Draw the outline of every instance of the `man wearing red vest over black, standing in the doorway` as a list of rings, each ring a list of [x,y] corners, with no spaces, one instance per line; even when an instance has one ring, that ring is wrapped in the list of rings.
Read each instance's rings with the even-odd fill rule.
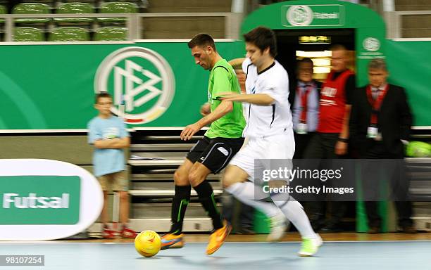
[[[317,134],[306,148],[304,153],[306,159],[335,159],[347,153],[351,96],[356,88],[355,75],[347,68],[346,48],[335,45],[331,50],[332,70],[322,86]],[[326,220],[323,220],[324,207],[325,204],[322,202],[310,203],[313,229],[326,232],[338,231],[339,221],[345,212],[345,204],[332,202],[330,219]]]

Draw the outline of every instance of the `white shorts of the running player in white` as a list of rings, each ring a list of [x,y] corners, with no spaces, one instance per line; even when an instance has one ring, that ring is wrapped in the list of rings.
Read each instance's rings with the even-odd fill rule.
[[[256,166],[262,166],[264,169],[271,168],[270,160],[289,160],[285,167],[292,168],[292,158],[295,153],[295,140],[293,135],[271,136],[265,139],[249,139],[245,146],[232,160],[229,165],[235,165],[244,169],[249,174],[249,180],[254,181]],[[262,160],[255,165],[255,160]],[[280,162],[276,162],[277,165]],[[262,168],[260,168],[262,169]]]

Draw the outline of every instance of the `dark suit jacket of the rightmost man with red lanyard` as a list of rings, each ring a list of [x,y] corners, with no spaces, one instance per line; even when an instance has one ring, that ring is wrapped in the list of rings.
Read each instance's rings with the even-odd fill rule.
[[[356,89],[350,115],[350,137],[360,155],[373,147],[373,139],[367,139],[370,126],[371,105],[366,86]],[[389,84],[387,94],[377,114],[377,127],[382,133],[382,142],[387,154],[396,158],[404,156],[401,139],[408,140],[412,116],[407,103],[406,91],[400,86]]]

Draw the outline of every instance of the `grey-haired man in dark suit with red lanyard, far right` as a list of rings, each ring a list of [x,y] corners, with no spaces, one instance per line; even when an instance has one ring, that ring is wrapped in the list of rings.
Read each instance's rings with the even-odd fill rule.
[[[412,116],[406,93],[400,86],[387,84],[389,73],[385,60],[375,58],[368,65],[370,84],[356,91],[350,117],[350,136],[363,159],[394,159],[389,162],[390,189],[394,196],[399,226],[405,233],[413,233],[411,202],[408,201],[408,182],[404,169],[404,143],[408,141]],[[379,175],[376,172],[383,162],[365,162],[363,188],[366,200],[369,233],[380,231],[381,217],[377,214]],[[371,165],[371,166],[370,166]],[[375,166],[379,165],[379,166]],[[401,166],[399,166],[401,165]],[[381,167],[381,166],[380,166]],[[377,169],[378,170],[378,169]],[[381,170],[381,169],[380,169]],[[368,197],[368,198],[367,198]]]

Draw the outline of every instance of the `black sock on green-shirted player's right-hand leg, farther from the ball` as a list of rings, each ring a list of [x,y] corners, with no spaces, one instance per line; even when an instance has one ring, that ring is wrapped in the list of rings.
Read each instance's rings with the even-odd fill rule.
[[[218,212],[217,205],[215,205],[213,188],[208,183],[208,181],[203,181],[198,186],[194,187],[194,190],[199,196],[202,206],[206,212],[208,212],[208,217],[213,219],[214,230],[223,227],[220,212]]]

